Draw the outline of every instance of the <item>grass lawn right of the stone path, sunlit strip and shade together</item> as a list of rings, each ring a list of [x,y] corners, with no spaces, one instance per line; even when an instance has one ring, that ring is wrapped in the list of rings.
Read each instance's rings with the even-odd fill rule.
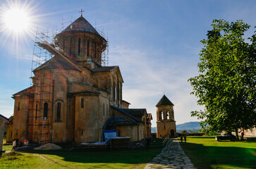
[[[181,146],[196,168],[256,168],[256,142],[187,137]]]

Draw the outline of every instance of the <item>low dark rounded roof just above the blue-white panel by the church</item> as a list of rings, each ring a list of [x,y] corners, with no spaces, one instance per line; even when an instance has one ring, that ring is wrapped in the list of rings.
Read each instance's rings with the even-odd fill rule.
[[[109,120],[106,121],[105,125],[107,127],[116,127],[118,125],[139,125],[138,123],[135,123],[133,120],[129,120],[124,117],[114,117],[109,118]]]

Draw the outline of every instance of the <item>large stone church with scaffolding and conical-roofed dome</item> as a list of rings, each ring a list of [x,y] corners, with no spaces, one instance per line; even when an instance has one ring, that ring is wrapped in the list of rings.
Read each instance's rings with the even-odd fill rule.
[[[152,115],[128,108],[118,65],[103,66],[107,41],[83,15],[54,37],[37,42],[53,57],[32,72],[32,86],[13,94],[7,140],[45,144],[104,141],[104,130],[139,141],[151,136]]]

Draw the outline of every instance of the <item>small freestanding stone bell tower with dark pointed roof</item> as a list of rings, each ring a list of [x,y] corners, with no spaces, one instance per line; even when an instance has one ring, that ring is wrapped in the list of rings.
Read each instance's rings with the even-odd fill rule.
[[[157,107],[157,138],[176,137],[176,121],[174,120],[174,104],[164,95]]]

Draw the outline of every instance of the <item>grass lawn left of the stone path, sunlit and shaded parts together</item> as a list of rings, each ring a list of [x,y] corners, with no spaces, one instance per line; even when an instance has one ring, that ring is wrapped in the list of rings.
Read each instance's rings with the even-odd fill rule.
[[[11,152],[0,158],[0,168],[144,168],[161,152],[162,141],[156,139],[150,149]],[[4,146],[6,151],[11,148]]]

